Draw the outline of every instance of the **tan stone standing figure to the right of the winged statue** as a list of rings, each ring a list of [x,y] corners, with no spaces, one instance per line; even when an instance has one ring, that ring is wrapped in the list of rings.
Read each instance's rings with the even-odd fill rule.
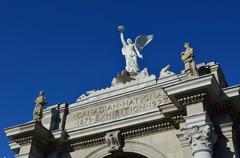
[[[196,63],[194,60],[194,50],[189,43],[184,43],[185,51],[181,53],[181,59],[185,64],[184,74],[186,76],[198,75]]]

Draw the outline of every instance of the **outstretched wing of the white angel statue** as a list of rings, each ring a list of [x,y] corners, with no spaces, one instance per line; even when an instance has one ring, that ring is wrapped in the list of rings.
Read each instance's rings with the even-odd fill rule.
[[[142,51],[142,49],[153,40],[153,35],[139,35],[135,39],[135,45],[137,46],[139,51]]]

